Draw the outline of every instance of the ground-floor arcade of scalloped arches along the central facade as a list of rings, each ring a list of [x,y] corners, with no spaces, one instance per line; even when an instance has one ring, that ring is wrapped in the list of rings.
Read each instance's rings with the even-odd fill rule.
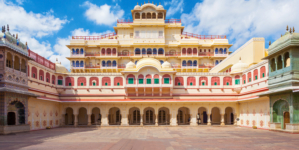
[[[80,106],[65,107],[63,125],[236,125],[235,107]]]

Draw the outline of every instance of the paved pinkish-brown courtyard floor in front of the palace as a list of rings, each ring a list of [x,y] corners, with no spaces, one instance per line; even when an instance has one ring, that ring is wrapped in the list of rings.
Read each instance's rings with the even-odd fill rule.
[[[299,149],[299,134],[241,127],[55,128],[0,135],[0,149]]]

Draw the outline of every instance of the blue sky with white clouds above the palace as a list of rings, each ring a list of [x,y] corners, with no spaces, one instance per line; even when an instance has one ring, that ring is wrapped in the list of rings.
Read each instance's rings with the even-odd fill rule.
[[[9,24],[32,51],[69,68],[71,36],[114,32],[117,19],[131,19],[135,0],[0,0],[0,25]],[[148,2],[148,1],[146,1]],[[150,1],[152,2],[152,1]],[[236,50],[253,37],[275,41],[286,25],[299,30],[299,0],[166,0],[168,19],[182,19],[186,32],[227,35]]]

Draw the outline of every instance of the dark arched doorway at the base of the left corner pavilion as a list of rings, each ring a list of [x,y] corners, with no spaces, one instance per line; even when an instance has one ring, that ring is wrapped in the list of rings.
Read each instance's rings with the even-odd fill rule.
[[[25,124],[25,107],[19,101],[13,101],[7,108],[7,123],[8,125]]]

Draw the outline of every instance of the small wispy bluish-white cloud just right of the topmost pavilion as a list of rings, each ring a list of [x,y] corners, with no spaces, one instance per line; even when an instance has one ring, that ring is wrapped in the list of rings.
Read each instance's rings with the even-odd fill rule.
[[[174,15],[177,12],[183,12],[184,0],[171,0],[164,2],[164,6],[169,6],[167,10],[167,17]]]

